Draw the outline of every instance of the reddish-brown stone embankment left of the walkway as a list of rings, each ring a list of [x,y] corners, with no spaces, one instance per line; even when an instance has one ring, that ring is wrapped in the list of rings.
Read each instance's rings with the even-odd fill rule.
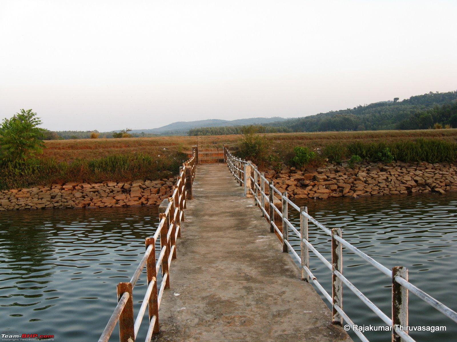
[[[159,181],[53,184],[51,187],[3,190],[0,210],[97,208],[156,205],[172,193],[175,178]]]

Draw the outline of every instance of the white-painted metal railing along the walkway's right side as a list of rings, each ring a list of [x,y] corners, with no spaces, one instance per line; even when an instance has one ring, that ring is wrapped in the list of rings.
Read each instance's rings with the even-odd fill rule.
[[[227,147],[224,147],[224,157],[228,164],[229,170],[234,175],[235,179],[239,182],[240,186],[244,186],[244,195],[253,197],[254,202],[260,207],[262,215],[270,223],[271,233],[275,232],[280,241],[282,242],[283,252],[292,253],[292,256],[297,259],[297,264],[302,273],[302,280],[311,282],[319,289],[327,301],[329,301],[332,308],[332,324],[343,325],[343,320],[349,326],[354,326],[349,316],[343,311],[343,284],[346,285],[365,305],[368,306],[381,320],[391,327],[392,341],[408,341],[415,342],[415,340],[408,335],[408,295],[409,291],[418,296],[421,300],[425,301],[436,310],[449,317],[452,321],[457,322],[457,312],[437,301],[432,296],[420,290],[415,285],[408,281],[408,269],[403,266],[395,266],[388,269],[382,264],[378,263],[369,255],[362,252],[360,249],[354,247],[344,238],[342,238],[341,229],[333,228],[328,229],[323,224],[319,223],[315,218],[308,214],[307,207],[298,207],[289,198],[287,198],[287,191],[280,192],[274,187],[273,181],[268,181],[263,172],[257,170],[250,161],[244,161],[232,155]],[[267,184],[268,194],[265,190]],[[277,204],[275,204],[275,198]],[[300,231],[288,220],[287,212],[289,205],[297,210],[300,214]],[[269,208],[268,212],[266,208]],[[278,208],[281,207],[281,210]],[[332,262],[320,254],[316,248],[308,241],[308,223],[313,223],[316,227],[324,231],[331,239],[331,254]],[[300,239],[301,255],[292,248],[289,243],[289,228]],[[354,286],[343,275],[343,249],[348,249],[352,253],[364,259],[368,264],[374,266],[387,275],[392,280],[392,312],[391,317],[383,313],[372,301],[370,301],[359,289]],[[322,263],[332,272],[332,293],[329,294],[324,287],[319,284],[317,278],[311,273],[309,269],[309,251],[314,253]],[[354,333],[361,339],[361,341],[368,342],[367,338],[359,330],[353,330]]]

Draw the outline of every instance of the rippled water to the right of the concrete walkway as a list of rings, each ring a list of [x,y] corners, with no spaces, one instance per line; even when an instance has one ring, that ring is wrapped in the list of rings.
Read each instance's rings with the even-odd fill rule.
[[[343,237],[375,260],[409,269],[409,280],[457,310],[457,194],[444,196],[372,197],[308,202],[308,212],[327,228],[341,228]],[[299,227],[298,212],[289,217]],[[330,237],[310,223],[309,241],[331,260]],[[300,254],[298,238],[294,249]],[[331,272],[310,251],[310,267],[331,294]],[[391,280],[343,247],[343,274],[387,316],[391,316]],[[343,286],[343,307],[357,325],[383,325],[351,290]],[[320,291],[317,290],[320,294]],[[323,297],[323,296],[322,296]],[[323,300],[328,303],[324,297]],[[446,326],[446,332],[412,332],[418,341],[454,341],[457,323],[409,295],[409,325]],[[370,341],[388,341],[389,333],[366,332]],[[358,338],[353,334],[352,338]]]

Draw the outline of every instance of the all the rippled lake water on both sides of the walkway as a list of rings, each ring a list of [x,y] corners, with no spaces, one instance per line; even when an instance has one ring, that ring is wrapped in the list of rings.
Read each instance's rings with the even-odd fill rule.
[[[344,238],[386,267],[407,267],[413,284],[457,310],[457,194],[316,201],[308,209],[327,228],[342,228]],[[298,223],[294,210],[289,217]],[[157,207],[2,212],[1,331],[97,341],[116,306],[117,283],[133,275],[144,238],[157,225]],[[330,259],[329,238],[312,225],[309,237]],[[345,276],[390,316],[390,279],[363,259],[344,250],[343,255]],[[331,292],[330,271],[310,256],[312,272]],[[133,292],[135,312],[144,292],[142,277]],[[455,340],[456,323],[414,295],[409,299],[410,325],[447,327],[447,332],[411,333],[413,337]],[[383,324],[347,288],[343,307],[356,324]],[[390,338],[379,332],[366,336],[370,341]]]

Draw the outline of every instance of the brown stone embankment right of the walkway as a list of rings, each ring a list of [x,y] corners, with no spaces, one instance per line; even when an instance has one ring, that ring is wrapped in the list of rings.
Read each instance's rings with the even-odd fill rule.
[[[457,190],[457,167],[449,164],[369,164],[355,169],[329,165],[298,171],[294,167],[279,173],[266,170],[281,192],[290,198],[365,197]]]

